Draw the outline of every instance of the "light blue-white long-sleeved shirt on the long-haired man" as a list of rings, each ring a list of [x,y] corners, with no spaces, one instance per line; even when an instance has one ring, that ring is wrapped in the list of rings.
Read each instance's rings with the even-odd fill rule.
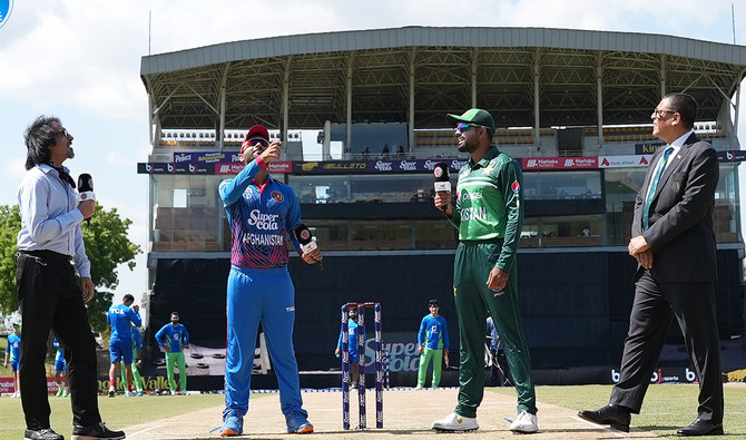
[[[60,179],[57,170],[40,164],[26,172],[18,187],[18,205],[21,214],[18,250],[70,255],[80,276],[90,277],[77,193]]]

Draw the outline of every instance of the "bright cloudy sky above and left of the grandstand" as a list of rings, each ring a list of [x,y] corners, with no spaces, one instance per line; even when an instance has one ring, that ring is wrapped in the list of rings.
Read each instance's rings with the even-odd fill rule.
[[[99,204],[132,221],[147,250],[148,53],[311,32],[438,27],[539,27],[661,33],[746,45],[746,4],[710,0],[11,0],[0,28],[0,205],[16,204],[24,173],[23,131],[55,115],[75,136],[73,176],[94,177]],[[151,25],[149,26],[149,17]],[[745,85],[746,86],[746,85]],[[739,123],[746,133],[746,111]],[[745,136],[745,135],[742,135]],[[744,168],[744,167],[742,167]],[[740,180],[746,182],[742,169]],[[746,194],[742,185],[742,193]],[[742,215],[742,217],[744,217]],[[147,291],[146,255],[119,267],[115,299]],[[92,268],[94,271],[96,267]]]

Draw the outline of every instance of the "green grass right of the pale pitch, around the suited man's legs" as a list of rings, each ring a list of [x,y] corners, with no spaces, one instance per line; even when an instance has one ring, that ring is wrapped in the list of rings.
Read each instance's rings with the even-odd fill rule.
[[[490,388],[490,391],[514,395],[512,388]],[[727,436],[717,439],[746,438],[746,387],[725,387],[725,420]],[[538,387],[537,400],[576,410],[595,410],[609,403],[611,385]],[[691,423],[697,417],[696,384],[651,385],[645,395],[642,410],[632,415],[632,427],[658,436],[676,437],[676,430]],[[541,427],[541,413],[539,413]]]

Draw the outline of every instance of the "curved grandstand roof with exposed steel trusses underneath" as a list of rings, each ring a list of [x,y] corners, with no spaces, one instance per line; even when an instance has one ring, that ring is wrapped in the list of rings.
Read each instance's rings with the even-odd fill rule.
[[[489,109],[501,127],[646,124],[665,92],[699,120],[728,115],[746,47],[541,28],[406,27],[226,42],[143,57],[154,123],[175,129],[445,126]],[[600,87],[599,87],[600,85]],[[600,97],[600,104],[599,104]],[[350,106],[350,113],[347,107]]]

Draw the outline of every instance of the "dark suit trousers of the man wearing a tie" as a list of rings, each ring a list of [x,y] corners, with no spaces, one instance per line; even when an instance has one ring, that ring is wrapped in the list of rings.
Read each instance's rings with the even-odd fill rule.
[[[619,383],[609,403],[639,413],[674,317],[699,380],[699,419],[723,422],[720,341],[715,320],[714,283],[659,283],[642,271],[625,340]]]

